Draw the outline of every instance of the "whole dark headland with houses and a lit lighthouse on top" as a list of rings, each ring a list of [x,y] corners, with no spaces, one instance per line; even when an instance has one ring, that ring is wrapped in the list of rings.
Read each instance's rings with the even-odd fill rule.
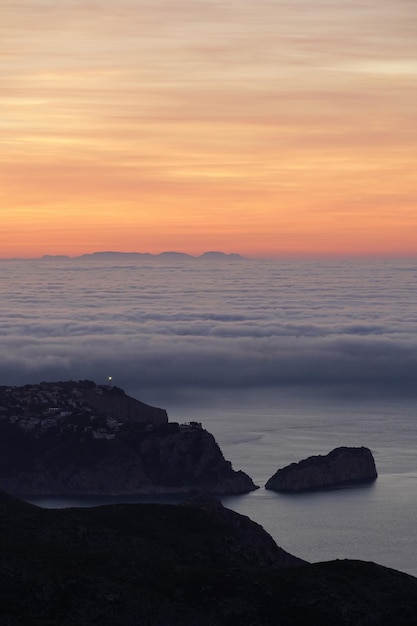
[[[201,423],[92,381],[0,387],[0,489],[14,496],[240,494],[257,487]]]

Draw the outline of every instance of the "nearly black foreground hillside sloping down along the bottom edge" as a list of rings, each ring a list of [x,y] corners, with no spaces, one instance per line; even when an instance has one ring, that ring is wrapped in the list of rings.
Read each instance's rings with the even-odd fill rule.
[[[4,626],[416,623],[416,578],[300,563],[218,503],[59,510],[0,495],[0,528]]]

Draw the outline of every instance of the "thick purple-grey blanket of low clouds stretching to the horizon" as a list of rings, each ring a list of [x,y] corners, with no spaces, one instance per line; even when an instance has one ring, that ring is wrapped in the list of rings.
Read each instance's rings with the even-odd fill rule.
[[[3,260],[0,384],[417,393],[417,261]]]

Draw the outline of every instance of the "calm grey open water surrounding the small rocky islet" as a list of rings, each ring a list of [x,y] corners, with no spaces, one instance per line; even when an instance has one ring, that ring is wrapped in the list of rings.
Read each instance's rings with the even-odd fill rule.
[[[260,523],[281,547],[309,561],[358,558],[417,575],[413,401],[265,391],[224,398],[199,414],[234,467],[261,486],[224,504]],[[339,445],[371,448],[379,473],[373,485],[302,495],[263,488],[279,467]]]

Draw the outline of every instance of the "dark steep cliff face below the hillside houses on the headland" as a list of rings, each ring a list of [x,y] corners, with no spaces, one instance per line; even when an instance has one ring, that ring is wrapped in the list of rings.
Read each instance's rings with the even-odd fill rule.
[[[23,439],[14,455],[9,439],[7,458],[0,458],[0,489],[14,495],[237,494],[256,489],[249,476],[233,470],[202,428],[129,425],[111,440],[74,434]]]

